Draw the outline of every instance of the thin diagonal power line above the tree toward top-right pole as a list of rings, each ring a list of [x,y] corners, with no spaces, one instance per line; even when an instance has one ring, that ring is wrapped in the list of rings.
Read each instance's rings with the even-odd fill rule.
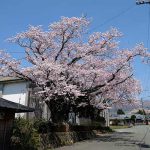
[[[132,5],[132,6],[128,7],[127,9],[121,11],[119,14],[117,14],[117,15],[115,15],[115,16],[113,16],[113,17],[107,19],[107,20],[105,20],[103,23],[101,23],[101,24],[95,26],[94,28],[92,28],[91,30],[89,30],[89,32],[92,32],[92,31],[94,31],[95,29],[98,29],[98,28],[102,27],[103,25],[105,25],[105,24],[111,22],[112,20],[115,20],[116,18],[118,18],[118,17],[120,17],[121,15],[127,13],[128,11],[130,11],[130,10],[131,10],[132,8],[134,8],[134,7],[135,7],[135,5]]]

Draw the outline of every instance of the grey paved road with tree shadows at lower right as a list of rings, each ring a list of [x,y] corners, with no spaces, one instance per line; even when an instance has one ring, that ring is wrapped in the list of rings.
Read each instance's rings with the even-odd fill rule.
[[[102,135],[55,150],[150,150],[150,126],[119,129],[111,135]]]

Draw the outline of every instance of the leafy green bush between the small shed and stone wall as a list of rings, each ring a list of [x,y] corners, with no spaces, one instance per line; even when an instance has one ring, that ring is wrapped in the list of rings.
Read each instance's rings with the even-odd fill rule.
[[[39,134],[33,124],[23,118],[15,119],[11,137],[12,150],[37,150]]]

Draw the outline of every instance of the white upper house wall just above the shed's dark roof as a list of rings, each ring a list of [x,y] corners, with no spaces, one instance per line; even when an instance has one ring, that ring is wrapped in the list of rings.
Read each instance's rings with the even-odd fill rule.
[[[26,105],[27,83],[8,83],[5,84],[2,91],[2,98]]]

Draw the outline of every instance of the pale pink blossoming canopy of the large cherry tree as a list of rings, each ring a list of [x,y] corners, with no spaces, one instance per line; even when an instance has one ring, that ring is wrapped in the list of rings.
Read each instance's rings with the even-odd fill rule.
[[[87,34],[89,23],[86,18],[62,17],[48,31],[30,26],[9,39],[24,49],[28,67],[1,51],[0,75],[34,83],[51,111],[64,102],[96,108],[135,103],[141,89],[133,76],[133,58],[149,54],[143,44],[120,49],[117,39],[122,34],[115,28]]]

